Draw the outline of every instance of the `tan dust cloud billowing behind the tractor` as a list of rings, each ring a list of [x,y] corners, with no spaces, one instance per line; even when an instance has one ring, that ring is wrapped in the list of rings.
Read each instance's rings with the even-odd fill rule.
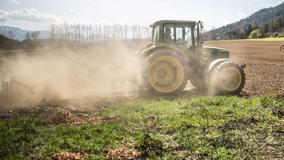
[[[139,59],[135,49],[123,45],[112,47],[92,47],[87,49],[47,49],[40,54],[19,53],[10,60],[13,62],[13,79],[34,87],[28,89],[11,84],[12,105],[25,106],[30,102],[49,102],[76,96],[126,94],[124,91],[139,89],[141,82]],[[136,84],[120,81],[120,76],[136,77]],[[9,77],[7,77],[9,80]],[[11,103],[5,103],[6,105]]]

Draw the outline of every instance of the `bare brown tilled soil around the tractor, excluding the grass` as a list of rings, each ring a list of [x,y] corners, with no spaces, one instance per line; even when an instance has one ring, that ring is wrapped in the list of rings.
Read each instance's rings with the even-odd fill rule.
[[[230,51],[230,60],[239,64],[246,63],[246,84],[240,96],[253,97],[268,95],[275,91],[284,89],[284,53],[279,51],[279,46],[284,42],[257,42],[257,41],[219,41],[204,42],[204,46],[225,48]],[[117,85],[111,93],[96,93],[88,96],[78,96],[70,99],[62,99],[49,102],[30,103],[28,106],[16,106],[13,108],[2,108],[1,119],[18,118],[20,116],[39,116],[50,118],[59,110],[67,110],[78,116],[89,116],[99,112],[109,104],[123,101],[141,101],[143,99],[157,99],[156,97],[143,93],[138,88],[127,90],[129,83]],[[163,97],[176,99],[178,97],[191,97],[202,95],[190,83],[179,96]],[[64,109],[65,108],[65,109]]]

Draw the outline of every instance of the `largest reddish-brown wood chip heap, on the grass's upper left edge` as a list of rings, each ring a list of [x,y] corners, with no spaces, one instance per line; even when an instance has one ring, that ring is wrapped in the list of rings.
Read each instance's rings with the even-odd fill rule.
[[[116,118],[115,116],[81,118],[70,112],[60,110],[50,118],[50,120],[47,122],[47,125],[81,126],[82,124],[87,124],[87,123],[92,123],[92,124],[106,123],[110,120],[116,122],[118,118]]]

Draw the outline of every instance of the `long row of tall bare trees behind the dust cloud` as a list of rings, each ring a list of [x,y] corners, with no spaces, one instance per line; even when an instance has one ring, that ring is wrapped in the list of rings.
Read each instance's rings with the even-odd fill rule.
[[[73,46],[86,44],[110,44],[114,41],[129,39],[130,36],[137,44],[147,41],[151,36],[148,25],[128,24],[51,24],[50,39],[54,44],[65,43]],[[60,43],[58,43],[60,42]]]

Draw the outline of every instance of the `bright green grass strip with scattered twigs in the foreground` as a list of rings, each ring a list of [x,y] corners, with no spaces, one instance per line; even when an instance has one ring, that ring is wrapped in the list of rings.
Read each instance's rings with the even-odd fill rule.
[[[0,121],[0,159],[42,159],[82,149],[106,159],[109,148],[137,148],[143,159],[261,159],[284,155],[281,96],[194,97],[112,104],[95,116],[118,122],[80,127],[45,125],[41,118]],[[282,156],[282,157],[281,157]]]

